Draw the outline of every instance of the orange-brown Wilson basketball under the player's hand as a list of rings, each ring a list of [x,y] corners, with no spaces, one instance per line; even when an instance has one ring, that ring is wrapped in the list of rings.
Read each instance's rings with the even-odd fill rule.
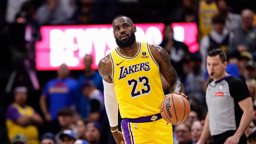
[[[166,122],[180,124],[186,121],[190,114],[190,103],[182,95],[169,94],[162,101],[160,112]]]

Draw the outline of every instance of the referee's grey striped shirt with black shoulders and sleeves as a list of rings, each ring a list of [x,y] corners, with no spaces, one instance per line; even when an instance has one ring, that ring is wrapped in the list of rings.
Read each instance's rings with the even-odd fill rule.
[[[206,103],[211,135],[238,128],[243,113],[238,102],[247,97],[250,97],[247,85],[235,76],[229,75],[208,84]]]

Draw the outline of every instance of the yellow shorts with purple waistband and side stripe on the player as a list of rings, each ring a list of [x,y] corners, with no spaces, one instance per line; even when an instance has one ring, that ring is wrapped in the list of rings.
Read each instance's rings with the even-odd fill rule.
[[[172,125],[160,113],[139,118],[124,118],[121,123],[126,144],[173,144]]]

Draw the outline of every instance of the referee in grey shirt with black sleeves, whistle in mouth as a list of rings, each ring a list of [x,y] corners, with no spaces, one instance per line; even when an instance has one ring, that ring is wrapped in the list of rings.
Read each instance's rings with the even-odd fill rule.
[[[245,130],[252,121],[254,110],[245,82],[226,73],[227,58],[222,49],[207,54],[207,70],[213,81],[206,89],[208,113],[197,144],[246,144]]]

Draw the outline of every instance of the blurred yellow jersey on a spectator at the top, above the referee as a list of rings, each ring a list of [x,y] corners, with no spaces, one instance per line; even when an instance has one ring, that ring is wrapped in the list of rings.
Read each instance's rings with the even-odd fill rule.
[[[212,30],[212,18],[218,14],[218,7],[215,2],[207,4],[206,0],[201,0],[198,7],[198,23],[201,37],[209,34]]]

